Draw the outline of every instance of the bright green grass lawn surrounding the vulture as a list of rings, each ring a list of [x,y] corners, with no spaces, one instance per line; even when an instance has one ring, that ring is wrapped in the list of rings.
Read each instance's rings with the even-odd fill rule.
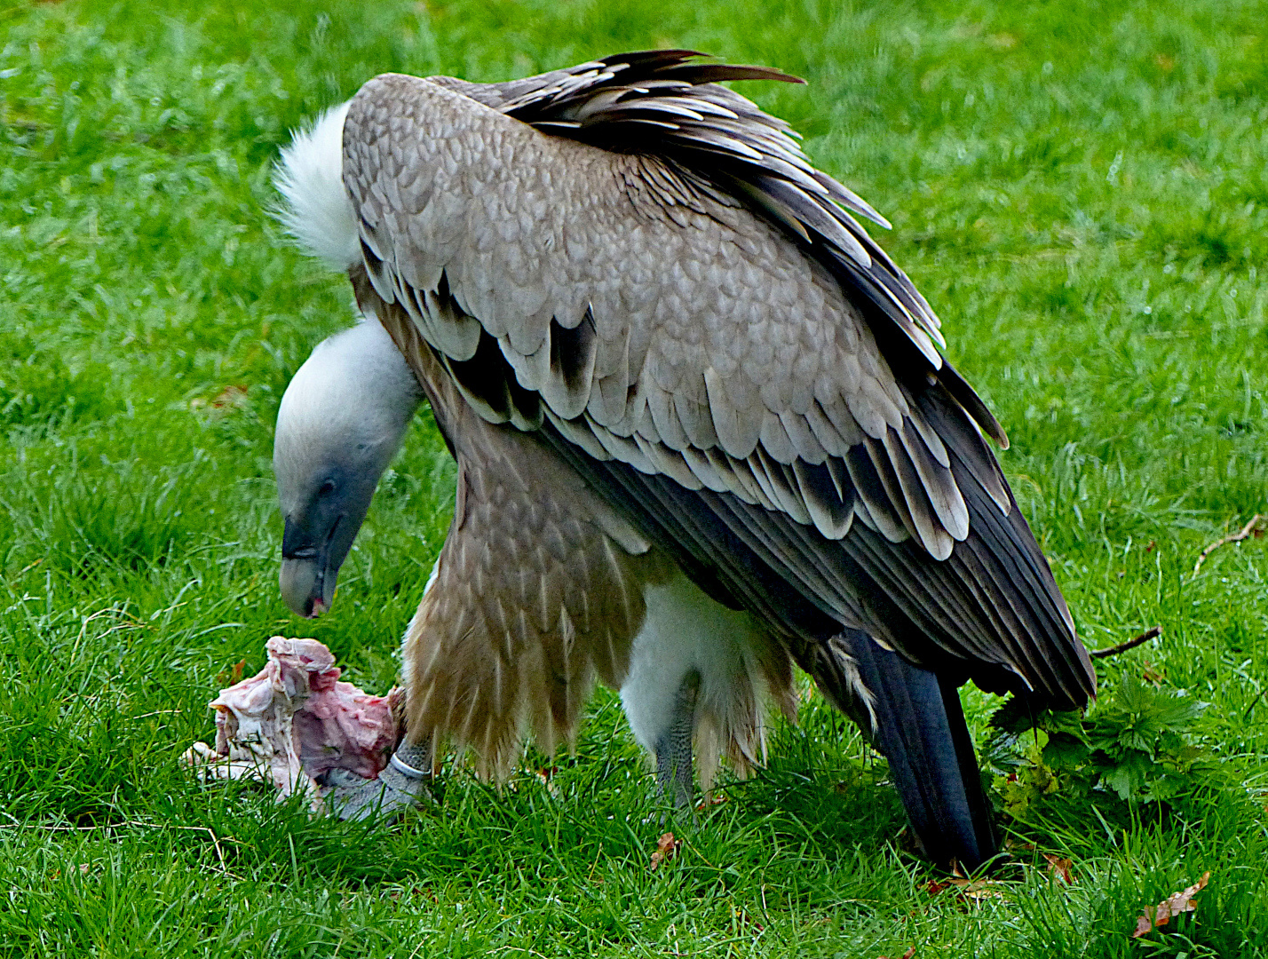
[[[0,11],[0,956],[1153,955],[1127,939],[1141,907],[1206,870],[1161,954],[1268,955],[1268,539],[1193,575],[1265,511],[1268,8],[184,9]],[[1165,629],[1103,681],[1149,669],[1208,703],[1217,780],[1165,814],[1098,818],[1098,798],[1012,822],[1037,849],[970,901],[929,893],[884,762],[815,699],[657,871],[606,691],[557,793],[530,755],[502,792],[455,773],[397,830],[186,775],[218,674],[259,669],[273,633],[385,690],[451,511],[424,414],[333,613],[287,614],[271,424],[350,317],[266,216],[287,131],[383,71],[493,80],[658,44],[810,81],[746,93],[893,219],[1084,639]],[[966,701],[981,736],[994,703]],[[1042,852],[1074,860],[1071,887]]]

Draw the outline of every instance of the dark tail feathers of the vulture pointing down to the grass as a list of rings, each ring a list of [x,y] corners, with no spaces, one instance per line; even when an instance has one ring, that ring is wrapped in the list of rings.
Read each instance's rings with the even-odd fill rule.
[[[872,695],[875,745],[924,854],[976,869],[995,854],[997,840],[955,686],[865,633],[848,630],[844,639]]]

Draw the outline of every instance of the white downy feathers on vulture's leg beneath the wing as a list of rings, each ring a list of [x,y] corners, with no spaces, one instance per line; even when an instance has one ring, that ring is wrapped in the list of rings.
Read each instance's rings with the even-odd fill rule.
[[[639,745],[654,751],[673,722],[678,689],[692,671],[700,674],[697,724],[706,715],[729,729],[751,727],[754,719],[760,724],[754,710],[761,708],[765,682],[753,649],[768,639],[753,619],[709,599],[681,572],[647,586],[644,601],[647,616],[621,685],[621,705]]]

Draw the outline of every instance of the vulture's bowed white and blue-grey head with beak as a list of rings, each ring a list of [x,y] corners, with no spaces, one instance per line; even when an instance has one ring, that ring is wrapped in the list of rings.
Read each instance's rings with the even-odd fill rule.
[[[374,320],[318,344],[287,387],[273,472],[285,519],[281,596],[299,615],[330,609],[339,567],[421,398]]]

